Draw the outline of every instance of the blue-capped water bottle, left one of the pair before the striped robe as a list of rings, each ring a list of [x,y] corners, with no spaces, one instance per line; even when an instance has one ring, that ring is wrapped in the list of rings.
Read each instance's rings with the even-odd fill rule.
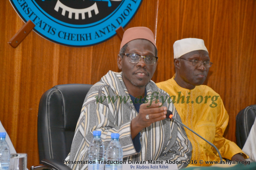
[[[88,149],[88,161],[92,162],[89,162],[88,170],[104,170],[104,163],[101,163],[101,161],[104,161],[105,148],[102,140],[100,139],[100,135],[101,131],[93,131],[93,139]]]

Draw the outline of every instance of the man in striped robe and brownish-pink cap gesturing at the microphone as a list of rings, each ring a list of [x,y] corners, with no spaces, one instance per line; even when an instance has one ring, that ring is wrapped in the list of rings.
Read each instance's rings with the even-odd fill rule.
[[[180,117],[173,103],[166,100],[169,95],[151,81],[156,56],[150,29],[134,27],[125,31],[117,60],[122,72],[109,71],[89,90],[67,161],[88,160],[92,131],[100,130],[105,147],[111,133],[120,134],[123,160],[168,160],[178,162],[179,169],[187,166],[190,141],[182,126],[165,119],[166,110],[179,120]],[[72,169],[87,169],[86,164],[68,165]]]

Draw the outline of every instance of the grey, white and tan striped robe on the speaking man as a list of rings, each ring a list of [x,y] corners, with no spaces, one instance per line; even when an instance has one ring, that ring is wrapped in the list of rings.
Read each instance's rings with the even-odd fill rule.
[[[158,96],[163,106],[180,117],[173,105],[168,102],[169,95],[159,89],[153,81],[146,85],[147,99]],[[156,97],[157,98],[157,97]],[[167,99],[167,100],[166,100]],[[109,71],[89,90],[81,110],[71,151],[66,161],[88,160],[88,147],[93,138],[93,130],[102,132],[101,139],[105,149],[111,140],[111,133],[120,134],[123,160],[175,160],[182,162],[178,168],[186,167],[185,161],[191,158],[191,143],[185,130],[176,121],[164,119],[152,123],[141,130],[141,150],[136,152],[131,139],[131,120],[137,111],[130,100],[129,93],[122,79],[122,72]],[[181,121],[181,120],[180,120]],[[72,169],[87,169],[87,164],[68,164]]]

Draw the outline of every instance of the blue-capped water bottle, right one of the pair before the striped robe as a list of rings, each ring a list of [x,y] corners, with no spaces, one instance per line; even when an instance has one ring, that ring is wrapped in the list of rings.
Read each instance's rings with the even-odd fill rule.
[[[109,161],[109,162],[108,162]],[[111,141],[106,149],[105,170],[122,170],[123,149],[119,143],[119,134],[112,133]]]

